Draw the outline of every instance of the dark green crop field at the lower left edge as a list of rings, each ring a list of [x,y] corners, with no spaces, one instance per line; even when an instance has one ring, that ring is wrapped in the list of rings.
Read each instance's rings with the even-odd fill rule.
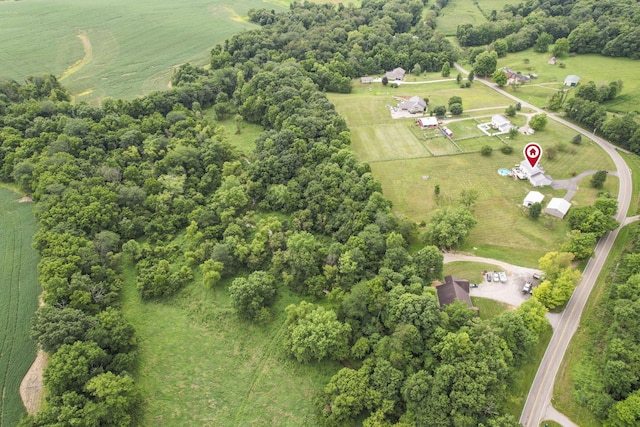
[[[0,187],[0,426],[7,427],[25,414],[19,387],[36,357],[29,329],[40,294],[33,204],[18,199]]]

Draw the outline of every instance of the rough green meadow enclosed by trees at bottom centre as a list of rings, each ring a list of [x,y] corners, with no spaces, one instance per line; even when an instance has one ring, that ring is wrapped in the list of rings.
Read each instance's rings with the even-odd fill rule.
[[[265,326],[238,321],[224,285],[200,279],[176,297],[141,302],[127,261],[124,313],[136,325],[135,378],[145,401],[140,425],[315,425],[313,397],[341,367],[306,365],[282,354],[283,291]]]

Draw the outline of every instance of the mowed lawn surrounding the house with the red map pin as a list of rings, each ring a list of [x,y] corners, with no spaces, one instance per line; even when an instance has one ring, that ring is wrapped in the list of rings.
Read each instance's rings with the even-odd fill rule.
[[[350,126],[353,150],[361,160],[370,163],[385,196],[393,202],[394,210],[415,222],[427,220],[439,207],[459,205],[462,190],[477,190],[479,198],[473,211],[478,224],[462,249],[473,250],[479,256],[535,267],[546,252],[559,248],[568,232],[566,221],[546,215],[537,221],[529,218],[522,200],[534,187],[527,181],[498,175],[499,168],[510,169],[522,161],[522,150],[527,143],[537,142],[543,150],[557,150],[555,159],[543,158],[541,161],[554,179],[569,179],[588,170],[614,168],[611,159],[597,144],[587,138],[583,138],[579,146],[572,144],[575,131],[551,120],[545,130],[531,136],[518,135],[509,139],[502,135],[502,140],[479,136],[477,124],[490,118],[477,116],[499,113],[509,104],[509,100],[484,86],[459,89],[443,82],[403,85],[398,89],[374,84],[370,89],[356,83],[351,95],[329,95]],[[446,105],[450,96],[458,95],[467,111],[464,115],[469,117],[451,118],[451,123],[445,119],[445,124],[454,131],[455,144],[437,136],[436,131],[424,132],[430,136],[425,138],[414,124],[414,118],[391,118],[385,105],[397,104],[392,95],[428,97],[431,107]],[[479,110],[483,108],[487,110]],[[499,151],[505,144],[513,147],[512,154]],[[494,149],[491,156],[478,152],[484,145]],[[435,196],[436,185],[440,187],[439,197]],[[617,178],[609,176],[605,189],[617,194]],[[545,202],[565,195],[564,190],[550,187],[538,190],[545,195]],[[590,188],[589,178],[585,178],[574,202],[578,206],[590,204],[596,195],[597,192]]]

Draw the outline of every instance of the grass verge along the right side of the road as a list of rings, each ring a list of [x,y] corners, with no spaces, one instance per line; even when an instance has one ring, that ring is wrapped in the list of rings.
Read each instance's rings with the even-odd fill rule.
[[[601,352],[602,340],[606,333],[607,325],[602,323],[603,298],[608,285],[605,280],[614,271],[620,254],[633,240],[638,223],[628,225],[620,230],[618,238],[609,252],[607,261],[598,276],[596,285],[589,295],[589,299],[582,312],[580,326],[574,334],[569,347],[558,370],[554,389],[554,406],[560,412],[567,415],[574,422],[584,427],[596,427],[602,425],[600,421],[584,406],[578,404],[575,399],[577,377],[583,379],[593,377],[600,384],[602,375],[601,363],[594,353]]]

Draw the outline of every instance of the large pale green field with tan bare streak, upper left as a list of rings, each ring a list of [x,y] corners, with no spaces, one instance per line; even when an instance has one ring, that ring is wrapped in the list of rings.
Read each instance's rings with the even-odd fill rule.
[[[255,27],[260,0],[0,2],[0,78],[50,73],[76,100],[132,98],[167,88],[173,68],[207,64],[211,48]]]

